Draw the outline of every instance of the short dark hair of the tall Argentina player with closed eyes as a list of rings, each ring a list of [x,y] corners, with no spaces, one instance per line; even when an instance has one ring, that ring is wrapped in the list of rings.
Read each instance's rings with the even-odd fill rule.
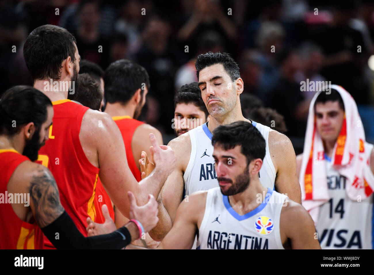
[[[207,52],[206,54],[200,54],[197,56],[195,62],[197,79],[199,80],[199,73],[203,68],[215,64],[222,64],[232,81],[240,77],[239,65],[229,54],[226,52],[223,54],[220,52]]]

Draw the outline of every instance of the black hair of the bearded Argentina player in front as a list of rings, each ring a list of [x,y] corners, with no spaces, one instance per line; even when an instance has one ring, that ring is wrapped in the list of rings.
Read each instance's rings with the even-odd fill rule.
[[[240,145],[247,165],[254,159],[263,160],[266,153],[264,137],[255,126],[246,121],[220,125],[213,131],[212,144],[222,145],[225,150]]]

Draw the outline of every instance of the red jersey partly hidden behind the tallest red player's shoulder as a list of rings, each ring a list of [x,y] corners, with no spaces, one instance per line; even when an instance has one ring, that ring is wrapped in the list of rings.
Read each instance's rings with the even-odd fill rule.
[[[136,180],[139,182],[141,181],[141,173],[137,164],[135,163],[134,155],[132,154],[131,141],[135,130],[139,125],[144,124],[144,122],[133,119],[130,116],[114,116],[112,119],[114,122],[116,122],[121,131],[123,142],[125,143],[126,157],[129,168]]]

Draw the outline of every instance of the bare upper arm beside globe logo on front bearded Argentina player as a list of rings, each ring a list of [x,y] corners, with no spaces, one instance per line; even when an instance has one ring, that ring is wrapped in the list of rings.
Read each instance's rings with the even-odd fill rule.
[[[280,224],[292,249],[321,249],[313,219],[300,204],[288,200],[282,208]]]

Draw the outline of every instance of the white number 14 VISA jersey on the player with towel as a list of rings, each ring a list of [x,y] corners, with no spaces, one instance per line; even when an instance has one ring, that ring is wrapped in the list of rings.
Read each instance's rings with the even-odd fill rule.
[[[373,145],[365,143],[370,154]],[[325,155],[327,186],[330,199],[319,207],[316,224],[322,249],[372,249],[373,194],[353,201],[346,192],[346,177],[338,174]]]

